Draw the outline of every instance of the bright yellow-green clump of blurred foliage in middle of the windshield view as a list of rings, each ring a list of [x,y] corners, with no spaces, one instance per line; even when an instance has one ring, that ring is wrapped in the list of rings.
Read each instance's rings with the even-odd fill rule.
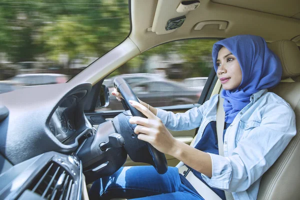
[[[96,51],[94,45],[97,41],[96,36],[85,33],[90,27],[74,23],[71,20],[74,18],[61,16],[57,22],[44,26],[38,39],[40,44],[45,45],[46,57],[57,62],[64,61],[66,68],[69,68],[72,60],[92,56]]]

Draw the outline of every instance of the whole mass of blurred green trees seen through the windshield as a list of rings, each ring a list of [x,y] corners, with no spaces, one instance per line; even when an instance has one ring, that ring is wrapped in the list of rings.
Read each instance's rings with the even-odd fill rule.
[[[2,0],[0,23],[0,51],[13,62],[101,56],[130,27],[127,0]]]

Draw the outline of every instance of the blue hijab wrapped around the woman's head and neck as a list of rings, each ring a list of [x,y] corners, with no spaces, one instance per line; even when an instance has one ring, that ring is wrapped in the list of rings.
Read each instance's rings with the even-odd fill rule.
[[[282,67],[279,58],[267,47],[262,37],[237,35],[213,44],[212,60],[215,71],[217,54],[222,46],[237,58],[242,73],[241,83],[237,88],[221,91],[225,121],[232,123],[237,113],[250,102],[253,93],[273,87],[280,81]]]

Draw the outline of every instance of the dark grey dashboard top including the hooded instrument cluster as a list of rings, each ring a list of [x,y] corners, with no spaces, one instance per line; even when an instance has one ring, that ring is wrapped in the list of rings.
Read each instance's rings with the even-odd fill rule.
[[[73,151],[92,128],[83,113],[91,86],[67,82],[0,94],[9,110],[0,122],[0,153],[17,164],[47,151]]]

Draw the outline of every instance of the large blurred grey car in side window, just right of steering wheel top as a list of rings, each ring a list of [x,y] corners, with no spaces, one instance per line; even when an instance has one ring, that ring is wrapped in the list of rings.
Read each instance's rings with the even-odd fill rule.
[[[197,103],[199,92],[170,80],[142,81],[131,85],[135,95],[153,107]],[[111,94],[107,108],[123,109]]]

